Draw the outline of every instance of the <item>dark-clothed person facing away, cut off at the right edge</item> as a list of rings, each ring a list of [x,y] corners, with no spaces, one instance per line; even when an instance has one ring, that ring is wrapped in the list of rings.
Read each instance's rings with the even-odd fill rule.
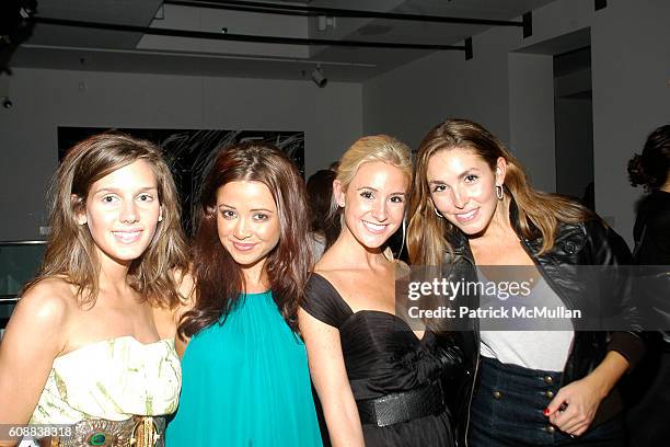
[[[633,229],[636,265],[651,267],[656,277],[645,277],[638,287],[652,296],[643,298],[642,306],[665,309],[666,321],[659,332],[647,332],[647,356],[631,380],[634,400],[627,422],[634,447],[661,446],[670,439],[665,409],[670,408],[670,125],[654,130],[642,154],[628,161],[628,180],[649,192],[637,207]],[[665,273],[665,275],[663,275]],[[651,329],[651,328],[647,328]]]

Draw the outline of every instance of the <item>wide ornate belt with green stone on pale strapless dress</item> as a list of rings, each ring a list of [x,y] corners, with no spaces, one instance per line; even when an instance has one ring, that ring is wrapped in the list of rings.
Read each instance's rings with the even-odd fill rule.
[[[163,447],[165,419],[132,416],[125,421],[84,420],[72,425],[71,436],[39,439],[41,447]]]

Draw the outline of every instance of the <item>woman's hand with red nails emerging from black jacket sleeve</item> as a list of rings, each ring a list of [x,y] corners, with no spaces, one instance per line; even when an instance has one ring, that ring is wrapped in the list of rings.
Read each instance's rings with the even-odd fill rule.
[[[561,388],[544,410],[544,415],[562,432],[571,436],[584,435],[593,422],[600,402],[626,369],[628,360],[610,351],[591,374]]]

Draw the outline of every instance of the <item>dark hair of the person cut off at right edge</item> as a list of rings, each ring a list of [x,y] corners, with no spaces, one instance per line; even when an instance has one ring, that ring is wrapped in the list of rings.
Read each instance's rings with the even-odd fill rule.
[[[628,161],[628,181],[633,186],[657,190],[668,181],[669,172],[670,124],[667,124],[649,134],[642,156],[636,153]]]

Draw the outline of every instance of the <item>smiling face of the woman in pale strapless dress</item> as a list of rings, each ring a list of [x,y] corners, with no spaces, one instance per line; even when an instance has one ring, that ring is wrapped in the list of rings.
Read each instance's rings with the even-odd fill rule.
[[[94,182],[77,219],[88,225],[103,264],[129,265],[149,247],[160,213],[155,175],[137,160]]]

